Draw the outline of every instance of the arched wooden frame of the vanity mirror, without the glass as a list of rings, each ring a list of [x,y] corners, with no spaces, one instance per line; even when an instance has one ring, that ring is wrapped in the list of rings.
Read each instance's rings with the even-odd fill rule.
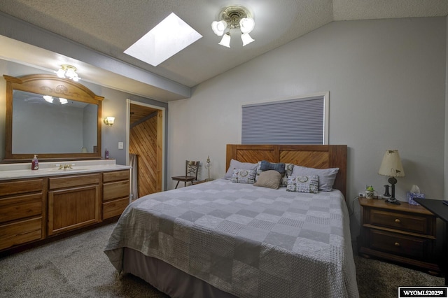
[[[101,159],[101,127],[102,127],[102,100],[90,89],[67,78],[59,78],[51,74],[34,74],[15,78],[3,75],[6,80],[6,148],[3,162],[28,162],[34,153],[13,153],[13,90],[21,90],[52,97],[63,96],[66,99],[81,101],[87,104],[96,104],[97,113],[97,152],[93,153],[38,153],[38,159],[45,161]]]

